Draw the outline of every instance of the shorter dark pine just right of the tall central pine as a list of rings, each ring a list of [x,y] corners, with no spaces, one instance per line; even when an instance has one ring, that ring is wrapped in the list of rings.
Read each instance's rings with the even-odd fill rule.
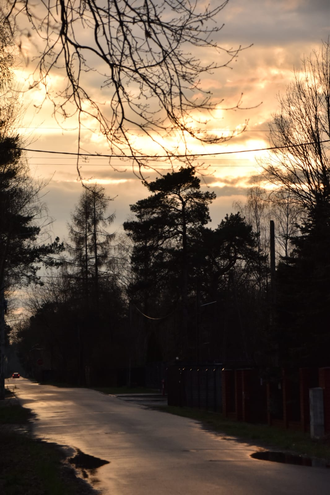
[[[209,358],[246,365],[255,363],[264,350],[258,342],[267,325],[260,304],[265,294],[259,290],[259,268],[264,263],[258,234],[240,213],[226,215],[216,229],[204,228],[196,239],[198,333],[201,344],[209,343]]]

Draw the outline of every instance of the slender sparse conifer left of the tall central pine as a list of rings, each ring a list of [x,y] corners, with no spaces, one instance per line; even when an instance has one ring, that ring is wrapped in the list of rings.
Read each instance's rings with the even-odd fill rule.
[[[94,365],[95,348],[101,336],[104,332],[110,334],[111,321],[117,318],[113,314],[105,321],[105,307],[109,308],[107,295],[110,288],[112,293],[117,288],[114,290],[116,284],[107,276],[106,270],[104,273],[101,271],[110,263],[111,242],[114,240],[114,234],[107,230],[114,219],[113,214],[106,214],[109,200],[101,186],[86,186],[71,214],[72,222],[68,224],[70,244],[67,244],[67,250],[72,255],[70,273],[76,277],[76,297],[79,299],[75,327],[82,348],[81,380],[86,366]]]

